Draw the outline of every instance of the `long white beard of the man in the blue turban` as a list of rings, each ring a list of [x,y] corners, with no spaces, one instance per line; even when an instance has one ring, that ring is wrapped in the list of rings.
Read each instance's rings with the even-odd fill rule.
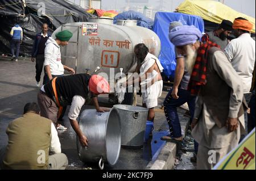
[[[193,50],[191,45],[187,45],[187,57],[185,58],[185,69],[188,71],[189,75],[192,74],[195,62],[196,62],[197,52]]]

